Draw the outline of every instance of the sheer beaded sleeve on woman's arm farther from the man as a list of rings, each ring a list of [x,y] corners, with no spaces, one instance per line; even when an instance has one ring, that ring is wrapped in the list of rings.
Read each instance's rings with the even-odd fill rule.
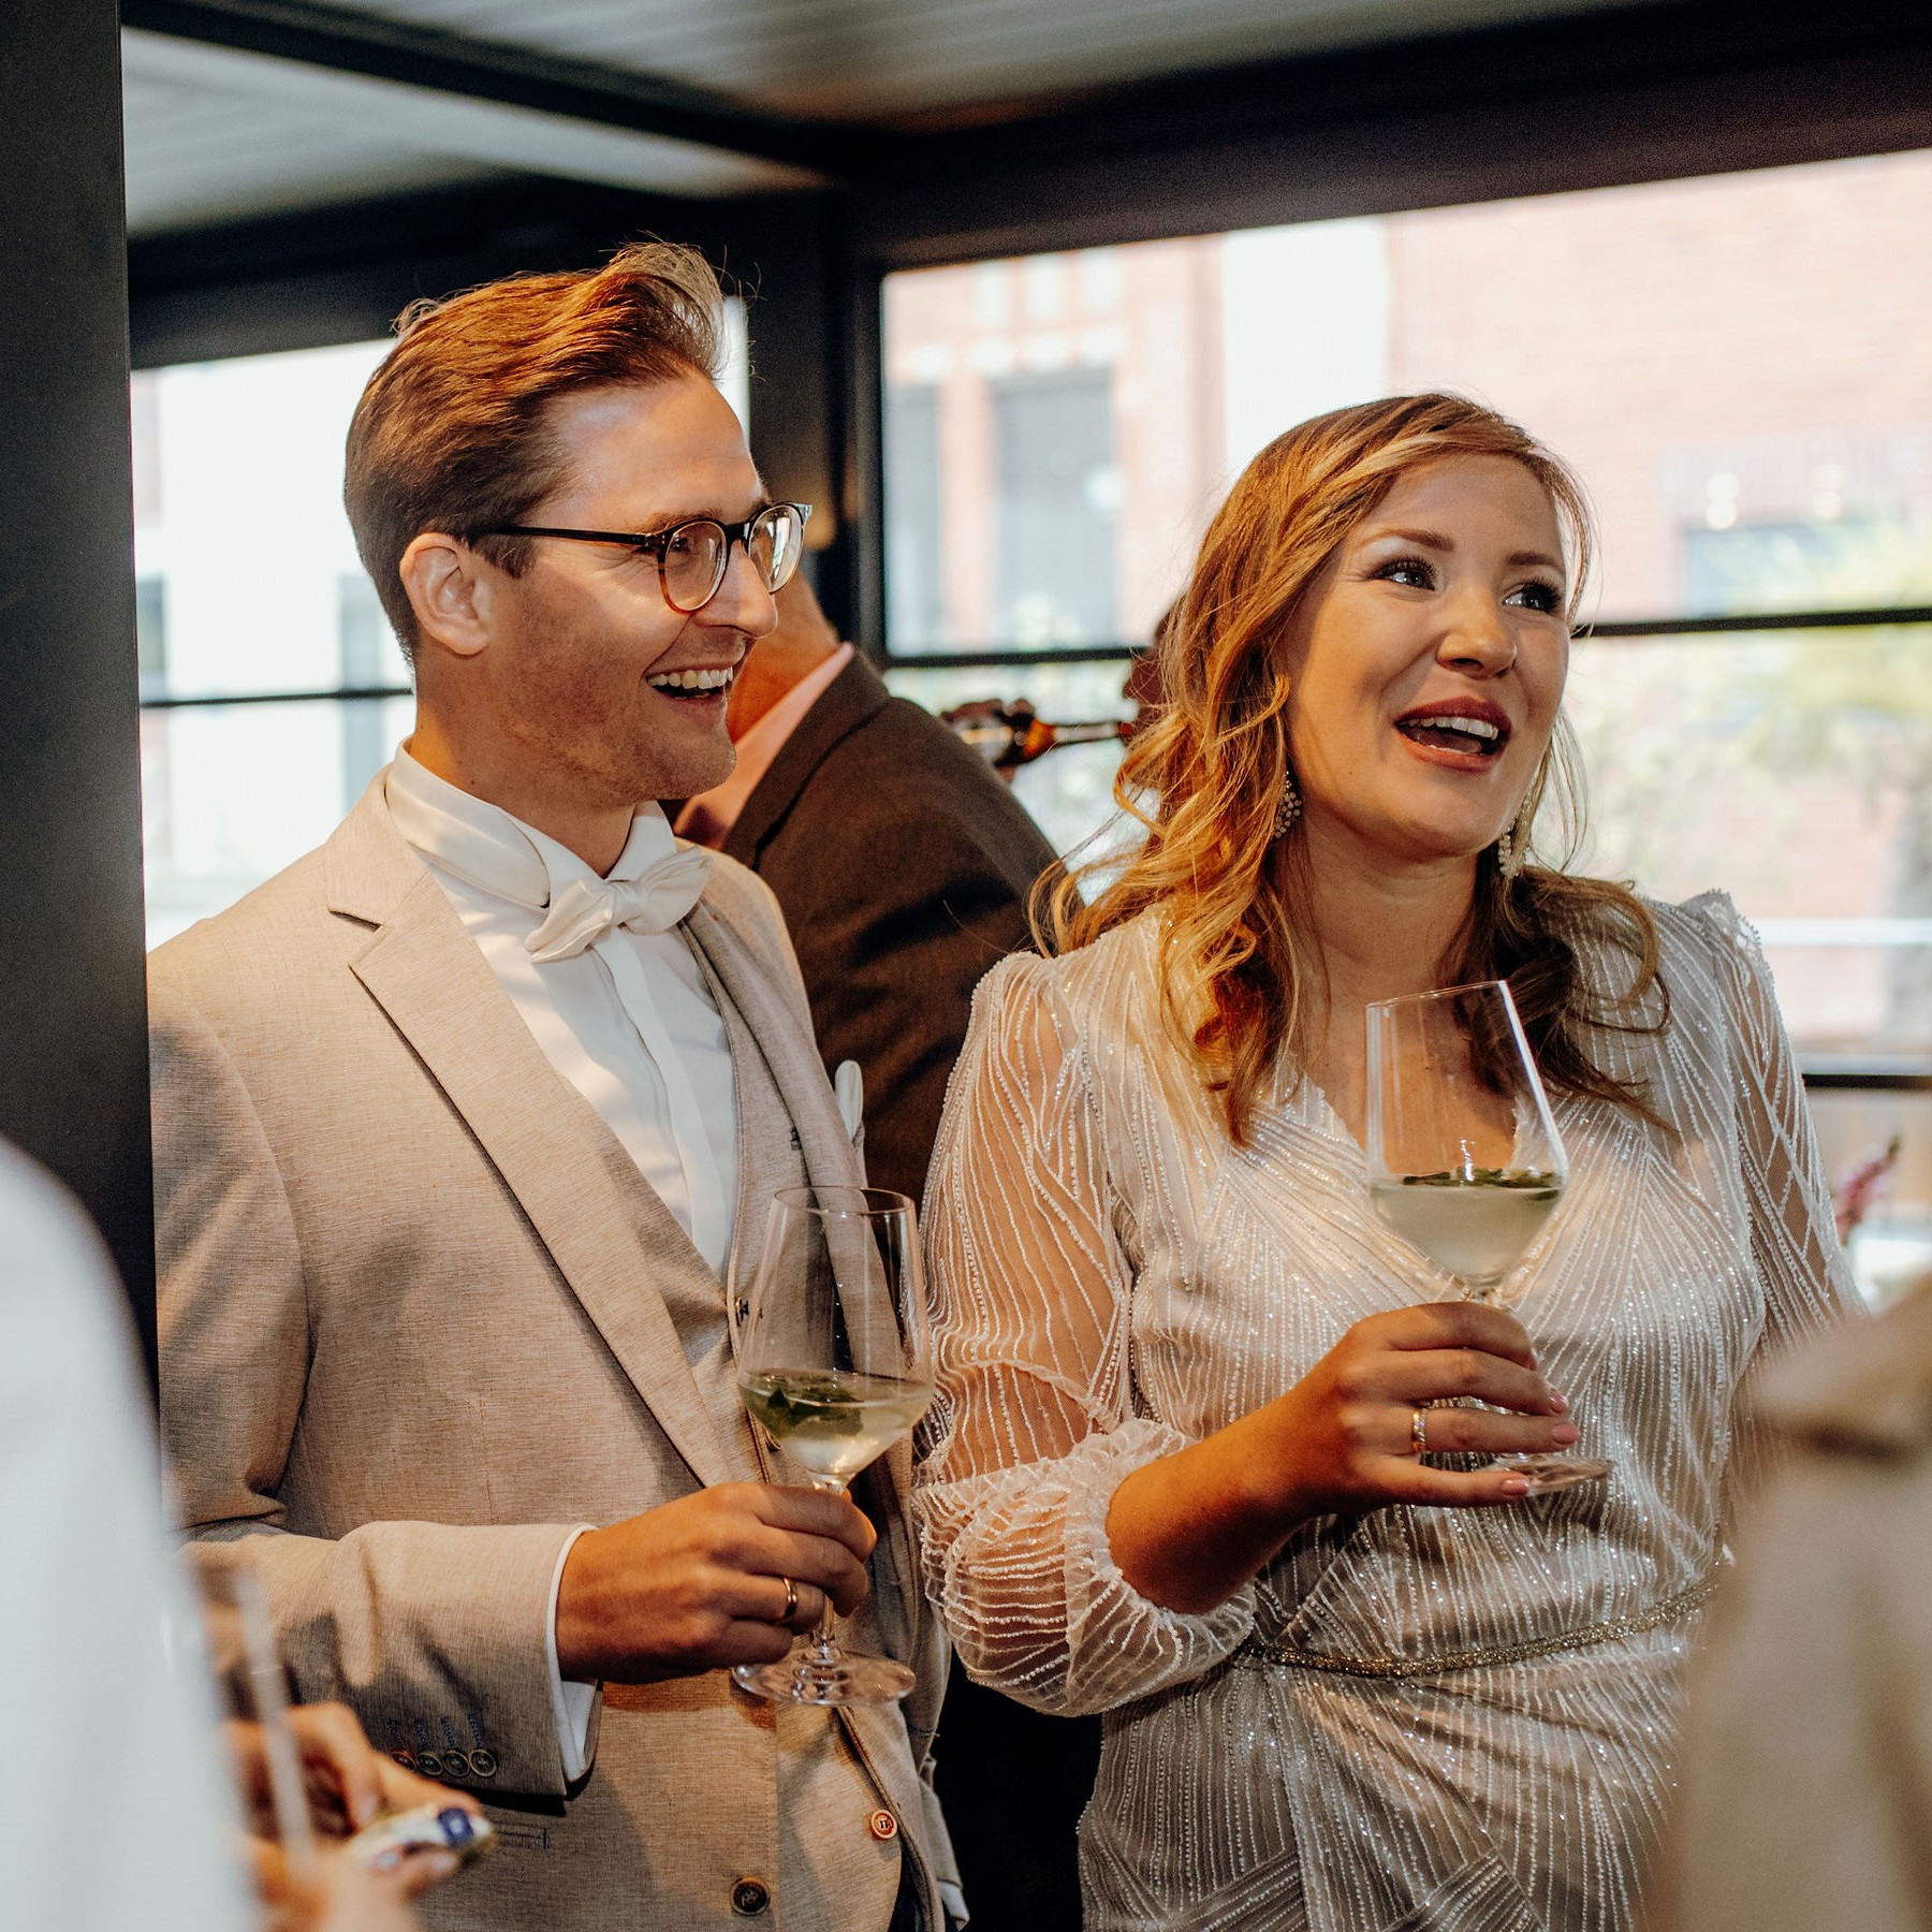
[[[1737,1153],[1750,1211],[1750,1256],[1764,1293],[1754,1376],[1766,1360],[1862,1312],[1862,1304],[1839,1248],[1832,1186],[1758,935],[1721,893],[1706,893],[1685,910],[1704,925],[1718,954],[1731,1032]],[[1737,1478],[1750,1486],[1762,1443],[1748,1422],[1733,1455]]]

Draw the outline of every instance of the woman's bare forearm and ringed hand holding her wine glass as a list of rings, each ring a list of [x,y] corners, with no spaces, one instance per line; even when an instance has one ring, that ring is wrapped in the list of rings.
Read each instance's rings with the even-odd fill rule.
[[[1430,1408],[1472,1397],[1484,1408]],[[1522,1323],[1482,1302],[1424,1302],[1358,1321],[1293,1387],[1206,1441],[1134,1470],[1107,1511],[1126,1580],[1169,1609],[1225,1604],[1312,1517],[1389,1503],[1493,1507],[1528,1484],[1509,1470],[1430,1468],[1430,1453],[1567,1449],[1575,1424],[1538,1374]]]

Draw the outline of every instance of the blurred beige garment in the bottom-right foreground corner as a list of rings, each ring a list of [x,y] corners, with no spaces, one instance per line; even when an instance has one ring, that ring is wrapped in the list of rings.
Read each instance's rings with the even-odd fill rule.
[[[1702,1633],[1652,1932],[1932,1922],[1932,1283],[1779,1362]]]

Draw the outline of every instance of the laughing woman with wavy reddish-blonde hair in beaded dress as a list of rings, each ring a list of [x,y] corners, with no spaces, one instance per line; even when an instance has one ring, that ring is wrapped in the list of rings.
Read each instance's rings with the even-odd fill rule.
[[[1586,531],[1457,398],[1264,450],[1122,765],[1146,844],[980,989],[918,1511],[968,1669],[1105,1712],[1090,1932],[1638,1924],[1739,1383],[1849,1287],[1729,902],[1524,864]],[[1364,1003],[1503,976],[1571,1155],[1520,1321],[1360,1148]],[[1607,1482],[1478,1466],[1578,1432]]]

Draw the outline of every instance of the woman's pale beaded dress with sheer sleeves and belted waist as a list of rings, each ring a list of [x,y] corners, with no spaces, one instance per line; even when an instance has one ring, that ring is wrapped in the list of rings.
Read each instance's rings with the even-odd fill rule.
[[[1376,1219],[1314,1082],[1229,1144],[1159,1022],[1151,916],[980,987],[925,1206],[941,1393],[916,1517],[972,1675],[1107,1714],[1090,1932],[1638,1924],[1752,1451],[1739,1381],[1853,1306],[1754,937],[1718,895],[1654,912],[1669,1026],[1592,1051],[1675,1134],[1553,1095],[1571,1184],[1511,1283],[1615,1474],[1318,1519],[1209,1615],[1121,1575],[1121,1480],[1449,1281]]]

